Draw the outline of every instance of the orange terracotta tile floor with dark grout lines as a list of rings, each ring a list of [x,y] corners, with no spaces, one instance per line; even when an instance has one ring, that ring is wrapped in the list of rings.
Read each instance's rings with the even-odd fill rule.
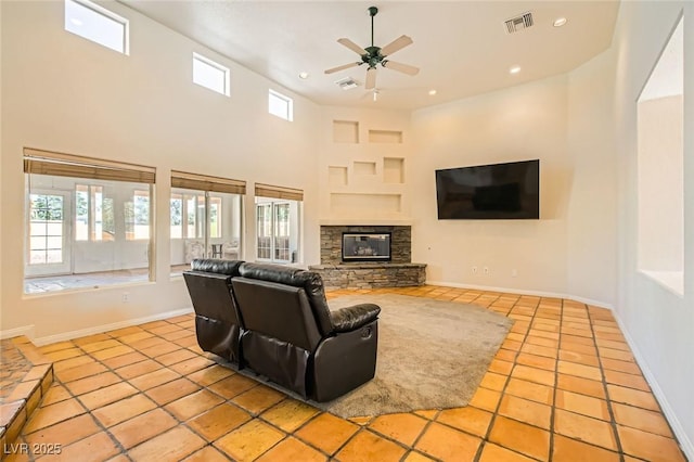
[[[384,291],[473,303],[515,319],[470,406],[338,419],[214,362],[197,347],[189,315],[42,347],[55,383],[4,455],[685,461],[608,310],[437,286]],[[329,297],[355,292],[374,291]]]

